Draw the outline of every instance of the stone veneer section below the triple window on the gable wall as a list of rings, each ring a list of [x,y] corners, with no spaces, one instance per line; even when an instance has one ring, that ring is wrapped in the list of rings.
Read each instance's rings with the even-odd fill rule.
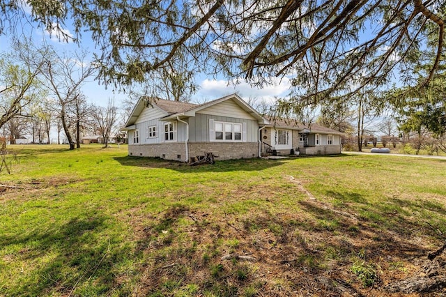
[[[216,160],[258,158],[259,142],[191,142],[189,158],[204,153],[217,155]]]

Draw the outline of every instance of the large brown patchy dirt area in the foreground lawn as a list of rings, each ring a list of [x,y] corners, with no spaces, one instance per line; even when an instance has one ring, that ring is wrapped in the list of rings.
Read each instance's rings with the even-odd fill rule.
[[[424,238],[377,229],[358,213],[307,197],[298,202],[305,215],[253,208],[222,217],[177,205],[139,220],[146,225],[135,221],[146,261],[134,294],[444,296],[445,258],[428,260]]]

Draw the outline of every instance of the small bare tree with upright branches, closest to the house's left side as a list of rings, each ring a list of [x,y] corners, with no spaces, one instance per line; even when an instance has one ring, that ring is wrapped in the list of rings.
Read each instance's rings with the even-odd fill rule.
[[[104,139],[104,147],[108,147],[109,137],[112,135],[114,128],[116,128],[117,112],[114,99],[109,98],[107,107],[97,106],[92,108],[91,116],[97,127],[96,130]]]

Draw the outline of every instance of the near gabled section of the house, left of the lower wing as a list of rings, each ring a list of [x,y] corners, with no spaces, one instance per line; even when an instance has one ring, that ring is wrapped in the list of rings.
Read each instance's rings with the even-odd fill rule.
[[[121,130],[128,131],[129,155],[189,161],[212,152],[227,160],[258,157],[266,123],[237,95],[201,105],[142,97]]]

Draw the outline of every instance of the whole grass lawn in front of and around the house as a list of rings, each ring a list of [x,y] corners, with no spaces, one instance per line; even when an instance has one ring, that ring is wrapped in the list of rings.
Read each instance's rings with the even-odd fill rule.
[[[387,296],[445,241],[445,160],[189,167],[126,146],[8,149],[0,296]]]

